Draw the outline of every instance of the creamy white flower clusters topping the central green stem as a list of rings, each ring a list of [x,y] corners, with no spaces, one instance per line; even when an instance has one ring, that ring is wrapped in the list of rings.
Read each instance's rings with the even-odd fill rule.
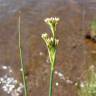
[[[56,39],[56,36],[55,36],[56,33],[55,32],[56,32],[56,25],[58,24],[59,18],[51,17],[51,18],[46,18],[44,21],[49,25],[53,36],[49,38],[48,34],[44,33],[44,34],[42,34],[41,37],[45,41],[48,48],[52,48],[52,47],[56,48],[56,46],[58,45],[59,40]]]

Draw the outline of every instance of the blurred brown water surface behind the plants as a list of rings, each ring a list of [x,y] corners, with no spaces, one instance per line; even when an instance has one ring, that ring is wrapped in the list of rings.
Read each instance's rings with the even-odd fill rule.
[[[96,19],[96,0],[0,0],[0,96],[18,96],[14,91],[17,87],[10,91],[10,86],[17,82],[18,86],[22,85],[18,49],[19,11],[29,96],[48,96],[50,62],[41,38],[42,33],[50,35],[44,23],[47,17],[60,18],[53,96],[78,96],[75,82],[82,81],[82,74],[96,63],[96,44],[85,39],[90,22]],[[23,96],[22,92],[18,93]]]

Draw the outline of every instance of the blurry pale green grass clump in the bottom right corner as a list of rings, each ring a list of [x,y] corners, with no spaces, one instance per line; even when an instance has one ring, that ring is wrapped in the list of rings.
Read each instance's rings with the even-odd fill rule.
[[[88,72],[86,81],[80,83],[79,96],[96,96],[96,72],[92,66]]]

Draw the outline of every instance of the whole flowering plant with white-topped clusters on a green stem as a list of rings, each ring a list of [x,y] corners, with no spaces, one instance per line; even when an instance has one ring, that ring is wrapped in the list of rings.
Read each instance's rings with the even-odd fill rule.
[[[56,65],[56,49],[59,42],[59,40],[56,38],[56,27],[57,27],[59,18],[51,17],[51,18],[46,18],[44,21],[45,23],[48,24],[52,33],[51,37],[49,37],[47,33],[44,33],[41,36],[47,46],[49,59],[51,63],[49,96],[52,96],[53,76],[54,76],[54,70]]]

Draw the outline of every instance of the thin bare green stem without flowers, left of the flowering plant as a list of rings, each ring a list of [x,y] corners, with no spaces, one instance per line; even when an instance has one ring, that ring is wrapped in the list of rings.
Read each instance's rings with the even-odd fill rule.
[[[20,64],[21,64],[21,74],[23,79],[23,85],[24,85],[24,96],[28,96],[28,90],[27,90],[27,80],[25,76],[25,66],[23,64],[23,56],[22,56],[22,48],[21,48],[21,18],[19,16],[19,22],[18,22],[18,32],[19,32],[19,56],[20,56]]]

